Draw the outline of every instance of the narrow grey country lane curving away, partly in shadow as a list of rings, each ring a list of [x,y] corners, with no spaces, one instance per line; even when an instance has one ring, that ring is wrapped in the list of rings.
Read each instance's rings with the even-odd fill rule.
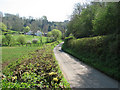
[[[71,88],[119,88],[120,84],[116,80],[63,52],[62,44],[57,45],[53,51]]]

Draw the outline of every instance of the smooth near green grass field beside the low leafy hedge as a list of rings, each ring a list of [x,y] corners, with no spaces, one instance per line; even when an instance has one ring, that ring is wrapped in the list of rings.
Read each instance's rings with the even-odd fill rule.
[[[38,47],[0,47],[2,48],[2,63],[12,62],[23,55],[36,50]]]

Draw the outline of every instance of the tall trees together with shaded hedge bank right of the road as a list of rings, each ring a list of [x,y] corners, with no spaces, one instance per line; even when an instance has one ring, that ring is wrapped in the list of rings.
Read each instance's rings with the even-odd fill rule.
[[[76,4],[62,49],[120,81],[120,2]]]

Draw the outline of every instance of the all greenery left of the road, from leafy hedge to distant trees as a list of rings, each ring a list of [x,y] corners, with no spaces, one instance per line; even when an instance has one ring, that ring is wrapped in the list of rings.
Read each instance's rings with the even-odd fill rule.
[[[53,54],[53,48],[65,33],[68,21],[49,22],[46,16],[34,19],[8,13],[3,15],[2,21],[3,89],[70,88]],[[52,40],[50,45],[46,45],[48,32],[52,33],[49,36]]]

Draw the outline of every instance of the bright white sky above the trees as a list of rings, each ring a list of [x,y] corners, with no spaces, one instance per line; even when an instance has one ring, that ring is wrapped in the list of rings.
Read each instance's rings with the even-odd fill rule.
[[[0,0],[0,11],[19,14],[21,17],[41,18],[45,15],[49,21],[64,21],[69,19],[75,3],[84,1],[86,0]]]

